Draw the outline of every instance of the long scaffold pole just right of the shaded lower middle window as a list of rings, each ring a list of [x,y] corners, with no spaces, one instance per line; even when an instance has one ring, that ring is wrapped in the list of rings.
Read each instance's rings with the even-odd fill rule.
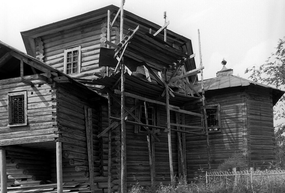
[[[170,112],[169,112],[169,90],[166,89],[166,114],[167,114],[167,129],[168,129],[168,153],[169,153],[169,165],[170,165],[170,180],[171,183],[174,179],[173,164],[172,164],[172,146],[171,146],[171,132],[170,132]]]

